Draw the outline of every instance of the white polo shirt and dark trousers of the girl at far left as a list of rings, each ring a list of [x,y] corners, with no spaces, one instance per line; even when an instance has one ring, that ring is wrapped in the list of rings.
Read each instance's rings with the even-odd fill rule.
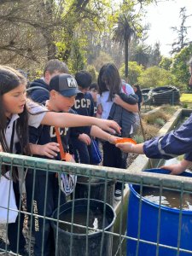
[[[31,113],[35,113],[37,110],[41,109],[44,111],[44,108],[34,108],[35,105],[31,104],[28,102],[28,107],[30,108]],[[33,108],[33,109],[31,109]],[[39,114],[28,114],[28,124],[32,125],[33,127],[38,127],[44,118],[44,113],[39,113]],[[14,154],[18,153],[16,151],[16,143],[19,143],[19,137],[17,135],[16,129],[16,122],[17,119],[19,119],[20,116],[18,114],[13,114],[11,119],[8,122],[7,128],[5,130],[5,137],[6,141],[8,143],[8,146],[10,148],[11,144],[11,137],[13,137],[13,132],[14,132],[14,137],[13,137],[13,147],[12,147],[12,152]],[[19,181],[14,182],[14,191],[15,191],[15,201],[18,209],[20,209],[20,188],[19,188]],[[20,209],[22,210],[22,209]],[[20,219],[19,219],[20,215]],[[25,245],[26,245],[26,240],[25,237],[22,234],[22,229],[23,229],[23,223],[24,223],[24,214],[20,213],[18,217],[16,218],[15,223],[8,224],[8,238],[9,238],[9,249],[13,252],[17,252],[17,242],[19,240],[19,253],[22,254],[25,251]],[[19,223],[20,221],[20,223]],[[18,236],[18,229],[19,229],[19,236]]]

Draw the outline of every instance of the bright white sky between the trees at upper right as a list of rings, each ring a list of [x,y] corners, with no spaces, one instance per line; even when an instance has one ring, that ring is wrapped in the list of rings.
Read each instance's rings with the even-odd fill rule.
[[[192,15],[192,0],[170,0],[169,2],[160,2],[158,5],[150,4],[147,8],[147,14],[144,23],[150,24],[148,31],[147,44],[154,45],[160,42],[160,52],[162,55],[170,56],[174,39],[177,38],[177,32],[173,32],[171,27],[179,28],[181,20],[179,19],[180,9],[186,7],[186,15]],[[180,21],[180,22],[179,22]],[[192,41],[192,16],[186,21],[188,29],[188,38]]]

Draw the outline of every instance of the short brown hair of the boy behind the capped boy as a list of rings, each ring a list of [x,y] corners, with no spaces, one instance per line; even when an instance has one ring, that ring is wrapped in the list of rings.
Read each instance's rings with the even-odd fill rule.
[[[47,62],[44,67],[44,75],[46,71],[49,71],[50,74],[55,73],[55,71],[59,73],[69,73],[67,64],[57,59],[53,59]]]

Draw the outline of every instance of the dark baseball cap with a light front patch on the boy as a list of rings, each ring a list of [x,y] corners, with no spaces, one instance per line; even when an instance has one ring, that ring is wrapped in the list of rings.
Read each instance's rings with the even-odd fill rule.
[[[62,96],[66,97],[75,96],[79,92],[76,80],[67,73],[55,75],[50,80],[49,90],[56,90]]]

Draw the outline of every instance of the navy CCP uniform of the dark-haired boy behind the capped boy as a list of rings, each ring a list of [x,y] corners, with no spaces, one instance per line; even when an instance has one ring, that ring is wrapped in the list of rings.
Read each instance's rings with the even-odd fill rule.
[[[84,116],[94,116],[94,101],[89,92],[79,92],[75,98],[73,110]],[[90,136],[90,126],[72,128],[71,142],[75,161],[90,164],[90,148],[79,140],[79,135],[85,133]]]

